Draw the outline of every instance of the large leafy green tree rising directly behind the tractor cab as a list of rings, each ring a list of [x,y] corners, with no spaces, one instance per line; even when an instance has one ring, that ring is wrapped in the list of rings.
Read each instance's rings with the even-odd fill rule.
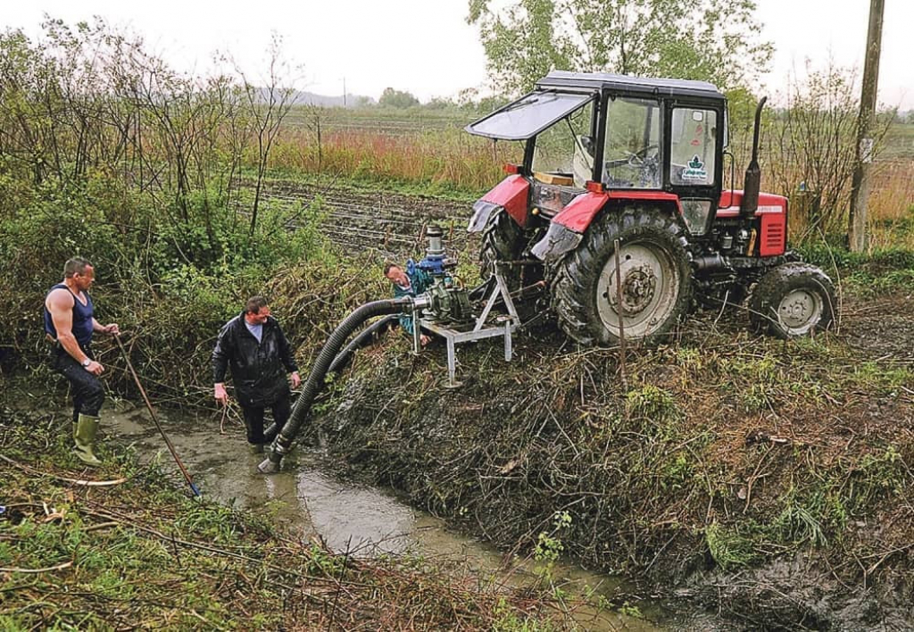
[[[505,92],[549,70],[709,80],[732,88],[767,70],[753,0],[469,0],[489,73]]]

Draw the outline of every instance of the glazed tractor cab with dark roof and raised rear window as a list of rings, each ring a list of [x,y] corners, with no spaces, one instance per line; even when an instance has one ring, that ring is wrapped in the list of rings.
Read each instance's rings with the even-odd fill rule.
[[[720,200],[726,111],[724,95],[705,81],[557,71],[466,129],[526,141],[518,170],[547,217],[594,183],[674,194],[688,230],[701,235]]]

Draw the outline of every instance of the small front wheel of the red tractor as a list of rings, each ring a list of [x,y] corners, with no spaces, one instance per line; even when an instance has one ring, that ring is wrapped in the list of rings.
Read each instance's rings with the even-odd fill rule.
[[[749,319],[765,333],[800,337],[834,320],[834,285],[809,263],[784,263],[765,273],[749,298]]]

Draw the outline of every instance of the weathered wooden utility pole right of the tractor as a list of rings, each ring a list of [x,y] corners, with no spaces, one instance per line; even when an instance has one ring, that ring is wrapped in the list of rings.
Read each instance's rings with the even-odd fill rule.
[[[873,162],[873,123],[876,117],[884,7],[885,0],[870,0],[863,89],[860,92],[860,114],[857,116],[856,167],[851,185],[851,209],[847,218],[847,245],[851,252],[863,252],[866,249],[866,201],[869,198],[869,168]]]

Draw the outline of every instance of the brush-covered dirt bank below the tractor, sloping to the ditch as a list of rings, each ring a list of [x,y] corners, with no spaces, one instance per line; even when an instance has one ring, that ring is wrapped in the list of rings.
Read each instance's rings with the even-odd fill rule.
[[[541,533],[738,627],[914,626],[914,299],[838,333],[699,314],[670,345],[579,351],[544,328],[459,352],[363,352],[314,423],[355,470],[506,550]],[[556,532],[557,515],[569,524]]]

